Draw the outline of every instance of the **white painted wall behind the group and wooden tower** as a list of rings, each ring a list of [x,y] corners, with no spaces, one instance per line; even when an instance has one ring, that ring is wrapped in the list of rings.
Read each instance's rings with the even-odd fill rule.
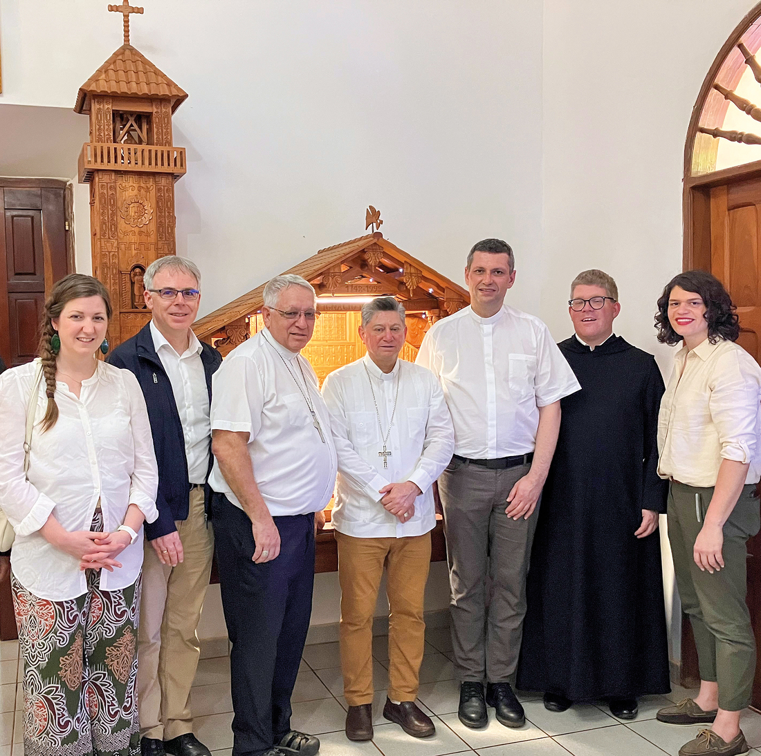
[[[752,0],[144,5],[133,43],[190,94],[174,119],[189,155],[177,239],[202,269],[202,313],[358,236],[371,203],[388,238],[454,280],[476,239],[508,239],[509,301],[558,339],[568,283],[602,267],[619,283],[617,331],[670,369],[652,315],[680,270],[686,128]],[[120,22],[102,0],[0,0],[0,116],[71,108]],[[0,173],[21,170],[23,140],[2,123]],[[83,264],[86,202],[79,192]],[[315,616],[335,620],[335,575],[318,586]]]

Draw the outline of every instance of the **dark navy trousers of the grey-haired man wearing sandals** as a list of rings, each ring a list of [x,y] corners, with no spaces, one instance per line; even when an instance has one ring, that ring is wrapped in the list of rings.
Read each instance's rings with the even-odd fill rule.
[[[274,520],[280,554],[256,565],[247,514],[214,496],[219,584],[232,642],[233,756],[260,756],[291,729],[291,693],[312,612],[314,514]]]

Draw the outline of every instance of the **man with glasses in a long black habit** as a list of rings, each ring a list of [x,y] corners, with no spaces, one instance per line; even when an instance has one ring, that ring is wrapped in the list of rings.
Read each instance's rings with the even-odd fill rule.
[[[613,335],[616,282],[585,270],[571,286],[575,335],[559,343],[581,391],[562,421],[544,486],[527,585],[517,687],[550,711],[670,691],[656,432],[664,381],[652,355]]]

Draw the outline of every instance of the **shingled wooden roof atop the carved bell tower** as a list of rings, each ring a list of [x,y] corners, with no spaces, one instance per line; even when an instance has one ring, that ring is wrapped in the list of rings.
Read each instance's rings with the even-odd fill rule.
[[[171,100],[172,112],[187,98],[185,91],[132,45],[119,47],[82,84],[77,94],[75,112],[89,112],[92,95],[163,97]]]

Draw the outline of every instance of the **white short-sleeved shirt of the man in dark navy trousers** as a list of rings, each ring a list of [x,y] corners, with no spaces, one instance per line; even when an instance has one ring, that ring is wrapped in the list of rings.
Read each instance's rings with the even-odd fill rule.
[[[317,375],[308,360],[285,349],[263,328],[228,354],[212,381],[212,429],[250,434],[253,477],[269,514],[307,514],[325,508],[336,482],[336,448]],[[240,507],[217,460],[209,483]]]

